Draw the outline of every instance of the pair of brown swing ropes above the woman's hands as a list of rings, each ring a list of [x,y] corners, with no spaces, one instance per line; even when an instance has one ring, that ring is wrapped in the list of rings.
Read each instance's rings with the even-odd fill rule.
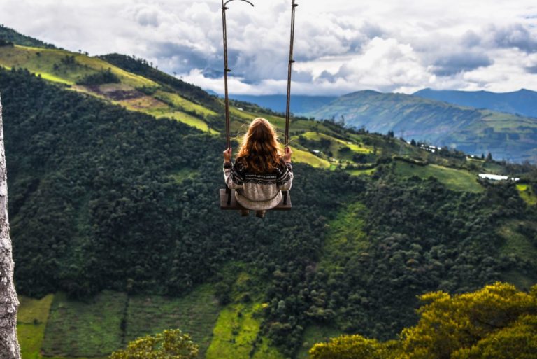
[[[226,5],[234,0],[227,0],[224,2],[222,0],[222,29],[224,34],[224,92],[225,92],[225,108],[226,108],[226,146],[231,148],[231,131],[229,129],[229,92],[227,89],[227,73],[231,72],[231,69],[228,68],[228,59],[227,59],[227,23],[226,23],[226,10],[229,9]],[[254,6],[248,0],[241,0],[245,3],[249,3],[251,6]],[[291,10],[291,41],[289,45],[289,66],[287,69],[287,106],[285,109],[285,148],[289,147],[289,117],[291,113],[291,74],[292,66],[295,62],[293,59],[293,47],[294,47],[294,9],[296,6],[299,6],[295,3],[296,0],[293,0],[292,10]]]

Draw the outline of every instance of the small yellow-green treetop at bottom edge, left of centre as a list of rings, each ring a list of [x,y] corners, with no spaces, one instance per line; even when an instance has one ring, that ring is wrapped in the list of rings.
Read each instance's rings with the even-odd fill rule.
[[[189,335],[173,329],[136,339],[127,349],[112,353],[110,359],[195,359],[198,352]]]

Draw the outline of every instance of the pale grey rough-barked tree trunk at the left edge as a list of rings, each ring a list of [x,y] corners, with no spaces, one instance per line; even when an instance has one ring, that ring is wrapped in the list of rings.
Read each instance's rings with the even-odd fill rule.
[[[0,99],[0,358],[20,359],[17,340],[19,300],[13,284],[13,256],[9,237],[8,181],[6,151],[3,148],[2,104]]]

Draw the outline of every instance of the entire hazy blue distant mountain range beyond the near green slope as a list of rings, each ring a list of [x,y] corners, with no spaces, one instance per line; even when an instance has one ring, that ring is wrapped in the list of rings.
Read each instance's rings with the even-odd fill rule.
[[[285,111],[285,95],[231,95],[272,111]],[[449,146],[473,155],[537,162],[537,92],[437,91],[413,95],[371,90],[341,97],[294,95],[294,115],[345,122],[372,132]]]

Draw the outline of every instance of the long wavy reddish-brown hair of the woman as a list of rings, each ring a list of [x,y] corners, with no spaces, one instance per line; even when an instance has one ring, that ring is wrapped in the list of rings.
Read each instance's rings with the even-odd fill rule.
[[[271,173],[280,163],[280,143],[271,122],[256,118],[244,135],[237,161],[255,173]]]

